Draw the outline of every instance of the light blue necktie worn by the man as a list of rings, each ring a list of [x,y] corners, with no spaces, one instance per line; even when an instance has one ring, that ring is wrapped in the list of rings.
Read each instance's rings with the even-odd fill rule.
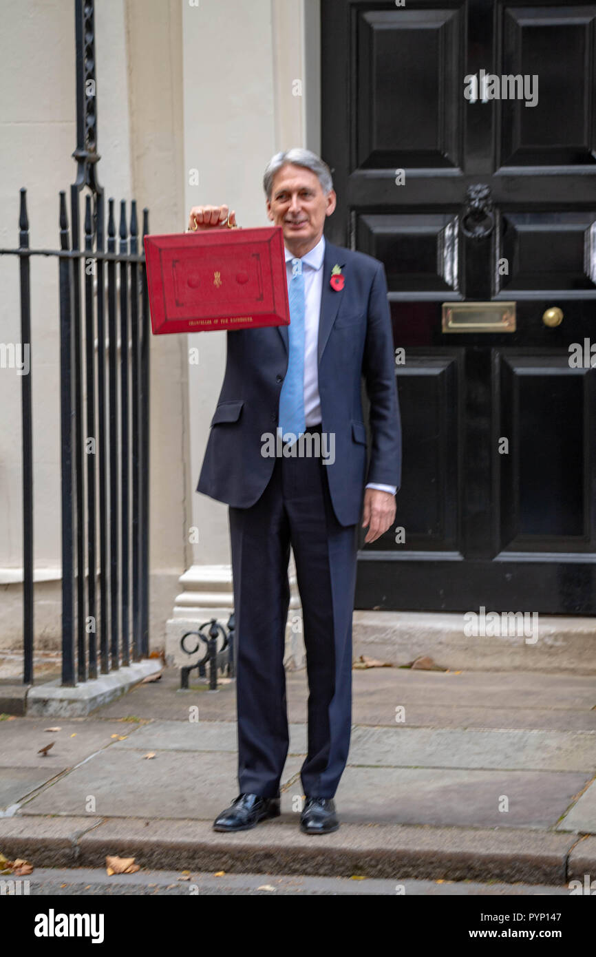
[[[279,395],[277,434],[298,438],[306,428],[304,418],[304,275],[300,259],[292,259],[292,279],[288,288],[290,325],[288,326],[288,371]]]

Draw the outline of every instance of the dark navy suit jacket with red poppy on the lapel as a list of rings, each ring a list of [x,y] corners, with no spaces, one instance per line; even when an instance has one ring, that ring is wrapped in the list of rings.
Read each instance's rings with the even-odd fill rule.
[[[330,285],[334,265],[344,285]],[[393,334],[383,263],[325,240],[319,323],[322,431],[335,434],[326,464],[339,523],[360,521],[366,482],[401,484],[402,434]],[[288,367],[288,327],[232,329],[224,382],[210,423],[197,492],[248,508],[271,479],[275,457],[262,455],[264,434],[276,435],[279,393]],[[370,457],[362,378],[370,402]]]

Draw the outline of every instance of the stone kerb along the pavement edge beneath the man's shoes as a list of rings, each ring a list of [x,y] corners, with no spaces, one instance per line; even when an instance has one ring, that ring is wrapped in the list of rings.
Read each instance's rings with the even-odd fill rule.
[[[342,824],[309,836],[287,815],[232,835],[210,821],[87,817],[0,820],[0,851],[37,867],[104,867],[106,855],[147,869],[319,877],[445,879],[563,886],[596,877],[596,838],[528,829]],[[34,872],[33,872],[34,873]],[[124,878],[125,879],[125,878]]]

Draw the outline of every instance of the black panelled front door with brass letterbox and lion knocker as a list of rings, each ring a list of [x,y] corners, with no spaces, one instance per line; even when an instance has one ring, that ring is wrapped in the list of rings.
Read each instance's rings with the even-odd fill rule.
[[[321,70],[404,428],[356,607],[596,613],[596,3],[321,0]]]

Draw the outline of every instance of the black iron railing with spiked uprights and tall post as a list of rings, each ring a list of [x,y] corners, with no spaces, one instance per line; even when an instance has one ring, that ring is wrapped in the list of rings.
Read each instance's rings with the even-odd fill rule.
[[[75,0],[75,33],[77,177],[70,188],[70,225],[62,191],[59,249],[32,249],[27,195],[21,189],[18,247],[0,249],[0,256],[18,257],[18,345],[29,352],[29,373],[21,379],[25,683],[33,683],[31,262],[35,256],[53,256],[58,266],[64,685],[146,657],[149,644],[150,327],[143,242],[140,246],[134,200],[129,218],[121,202],[118,251],[113,199],[105,221],[97,179],[92,0]],[[145,209],[143,236],[147,232]]]

